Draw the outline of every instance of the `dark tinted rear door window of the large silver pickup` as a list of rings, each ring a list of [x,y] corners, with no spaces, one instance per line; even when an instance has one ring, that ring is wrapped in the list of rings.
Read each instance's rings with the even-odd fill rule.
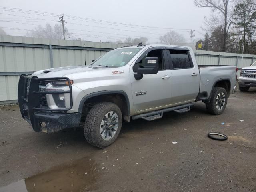
[[[174,69],[192,68],[193,67],[193,65],[190,63],[188,51],[169,49],[169,52],[170,52],[170,56],[172,59],[172,66]]]

